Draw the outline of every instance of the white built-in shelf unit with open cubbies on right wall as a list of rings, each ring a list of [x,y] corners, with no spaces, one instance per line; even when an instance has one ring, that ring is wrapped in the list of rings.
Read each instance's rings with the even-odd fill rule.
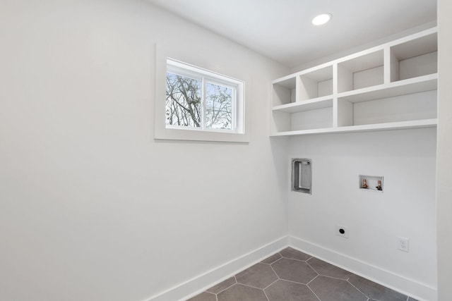
[[[272,136],[435,127],[437,29],[273,80]]]

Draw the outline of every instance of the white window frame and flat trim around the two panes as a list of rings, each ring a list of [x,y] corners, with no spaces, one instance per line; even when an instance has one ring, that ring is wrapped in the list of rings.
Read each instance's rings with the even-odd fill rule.
[[[156,61],[158,60],[156,56]],[[160,68],[159,68],[160,67]],[[155,139],[165,140],[200,140],[218,142],[249,142],[249,130],[245,127],[245,82],[227,75],[222,75],[204,68],[183,63],[175,59],[165,58],[165,68],[156,62],[155,80]],[[203,78],[213,85],[232,87],[235,99],[232,104],[233,129],[193,128],[166,124],[166,76],[167,72],[189,78]],[[203,87],[204,87],[203,83]],[[205,98],[204,89],[202,90]],[[203,103],[203,113],[206,104]],[[202,116],[204,118],[204,116]]]

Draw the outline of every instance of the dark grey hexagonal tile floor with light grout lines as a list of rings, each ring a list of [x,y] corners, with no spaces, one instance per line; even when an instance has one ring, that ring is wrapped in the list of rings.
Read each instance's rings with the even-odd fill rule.
[[[287,247],[189,301],[417,301]]]

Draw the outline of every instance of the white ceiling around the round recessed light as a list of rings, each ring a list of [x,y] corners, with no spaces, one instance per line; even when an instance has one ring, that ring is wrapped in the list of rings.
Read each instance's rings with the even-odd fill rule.
[[[291,67],[436,21],[436,0],[148,1]]]

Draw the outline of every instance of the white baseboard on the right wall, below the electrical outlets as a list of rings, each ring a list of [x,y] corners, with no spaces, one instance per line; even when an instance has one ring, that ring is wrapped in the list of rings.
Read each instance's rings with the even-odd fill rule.
[[[295,238],[294,236],[289,236],[289,245],[299,251],[322,259],[335,266],[339,266],[340,268],[384,285],[387,288],[396,290],[404,295],[409,295],[419,301],[437,300],[437,290],[431,285],[394,274],[393,272],[381,269],[378,266],[373,266],[367,262],[362,262],[359,259],[340,254],[334,250],[329,250],[320,245],[308,242],[307,240]]]

